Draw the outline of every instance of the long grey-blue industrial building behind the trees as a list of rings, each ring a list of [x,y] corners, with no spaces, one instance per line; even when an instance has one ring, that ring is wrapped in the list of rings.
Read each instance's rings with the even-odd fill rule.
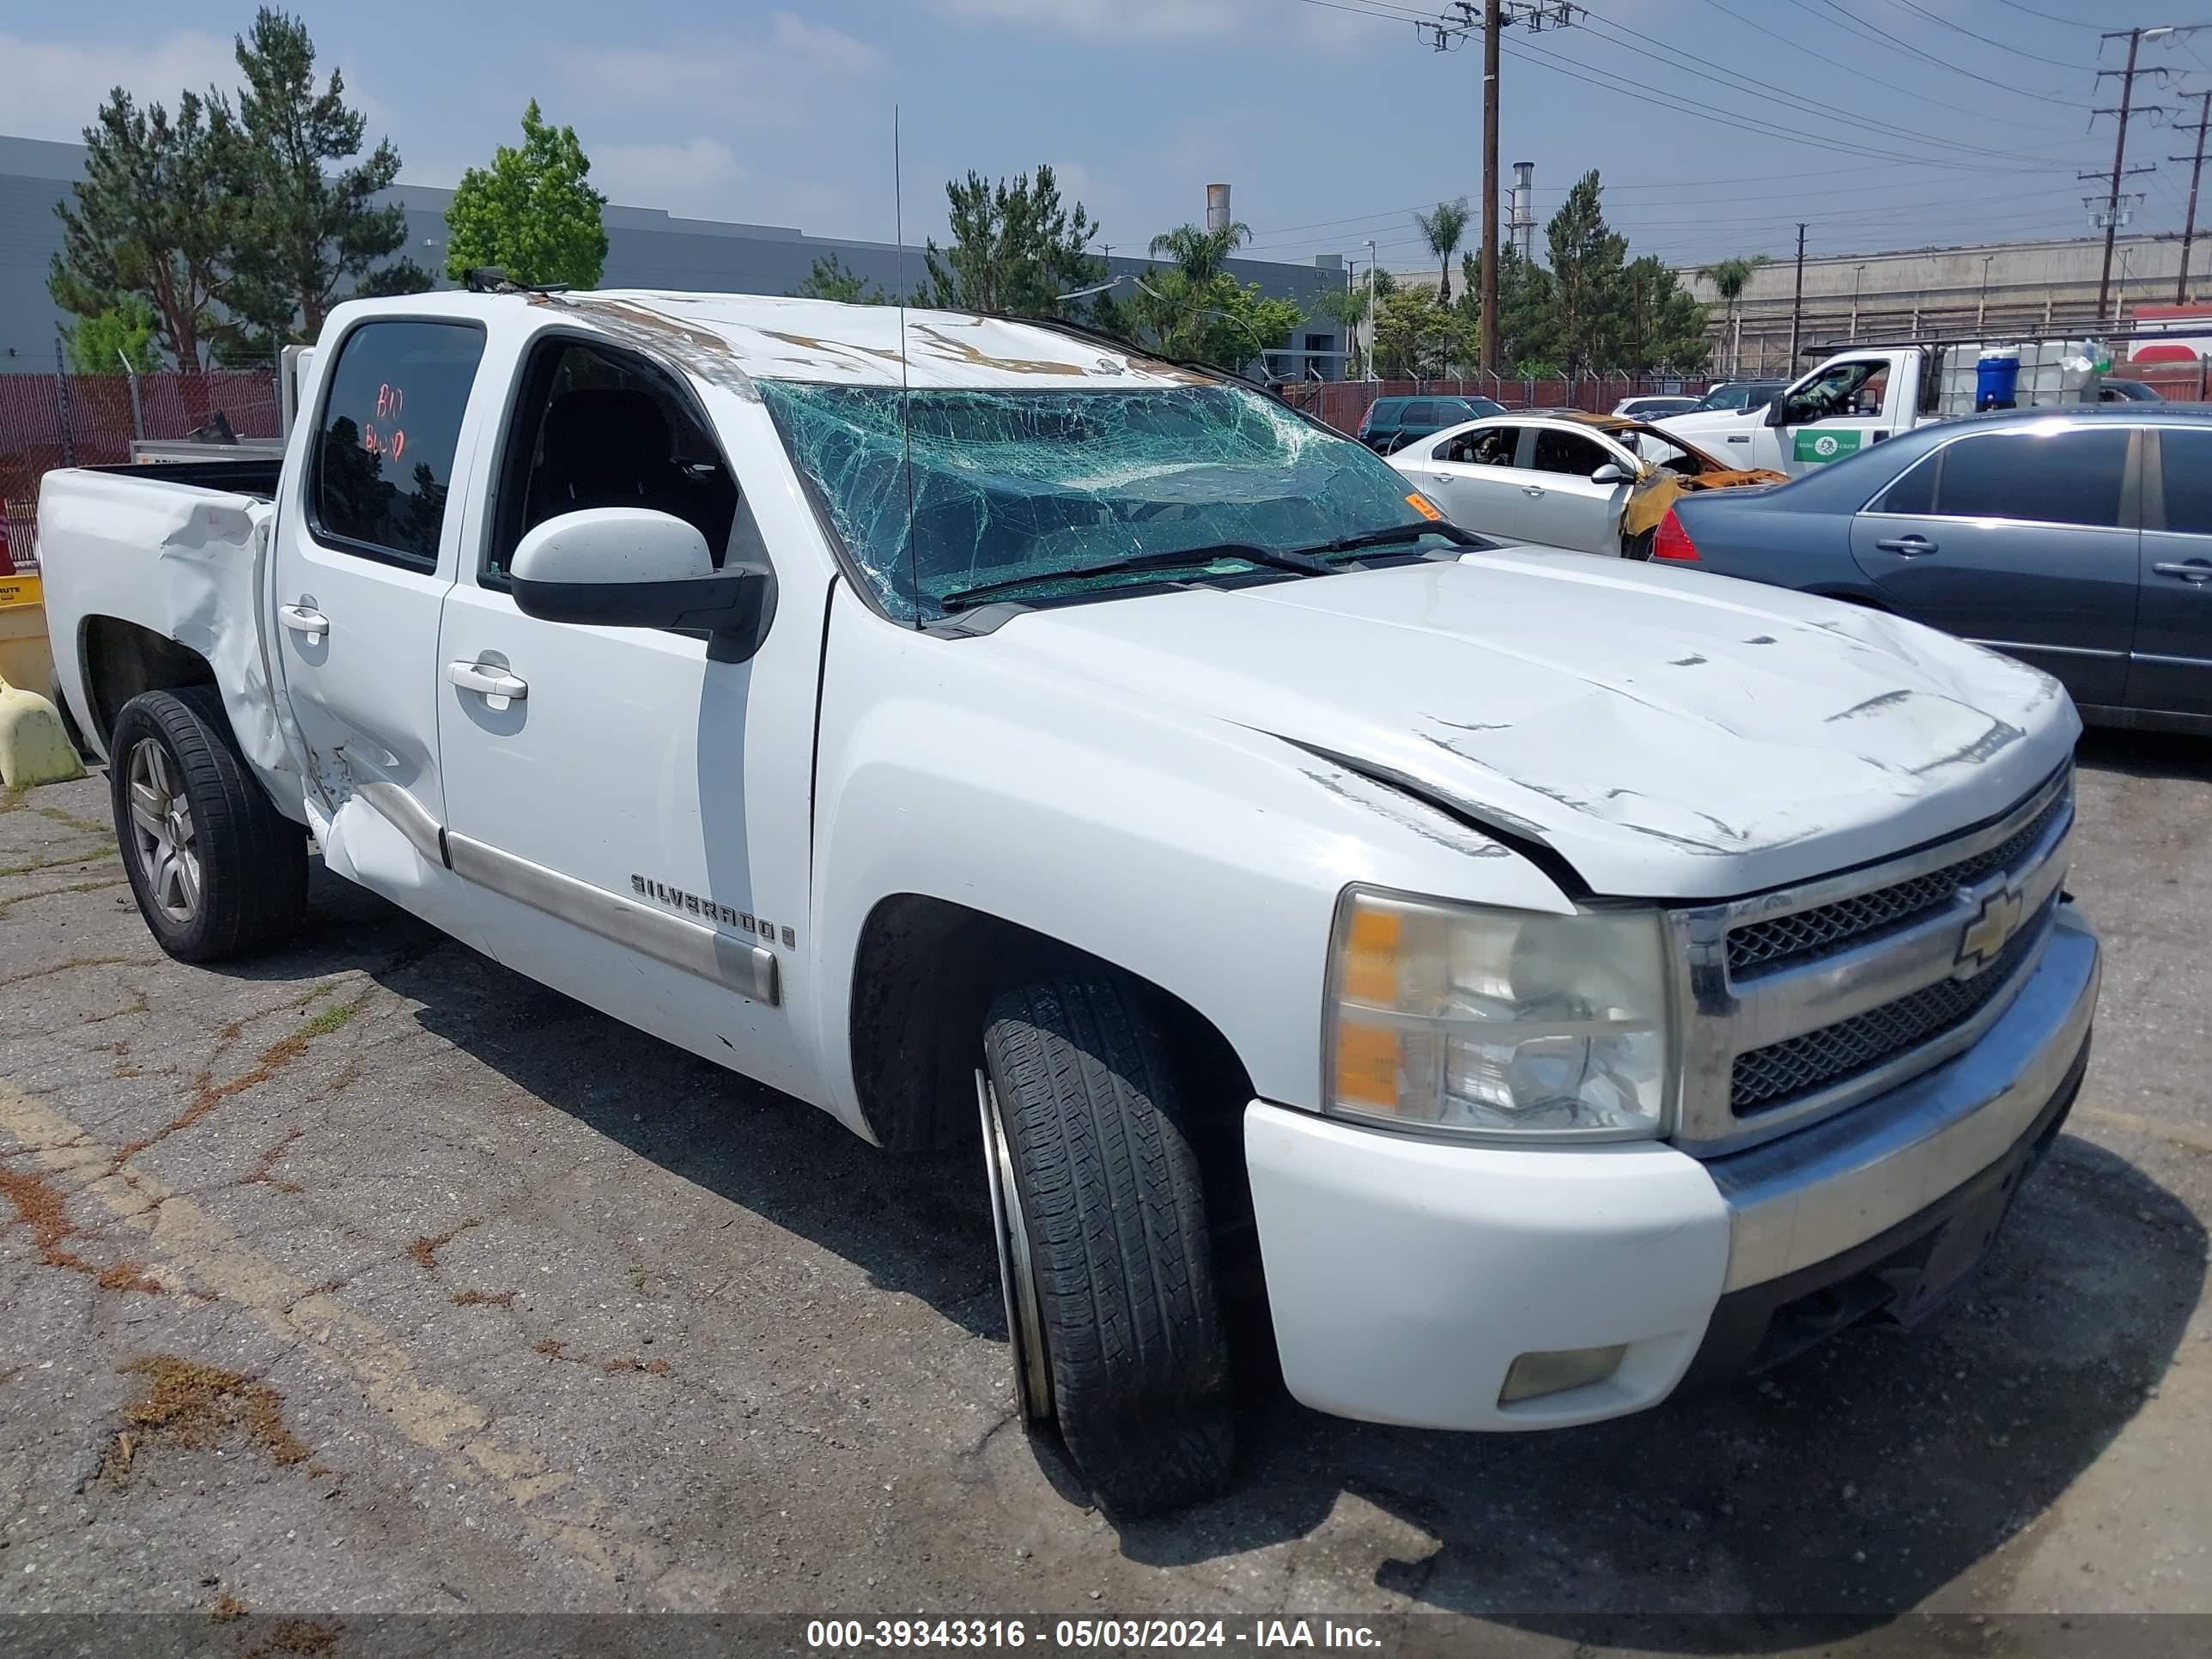
[[[0,137],[0,372],[53,369],[55,345],[71,325],[46,294],[46,270],[62,248],[55,204],[82,177],[84,146]],[[1214,186],[1219,188],[1219,186]],[[387,192],[407,208],[407,254],[422,270],[445,272],[445,210],[451,190],[400,184]],[[675,288],[690,292],[790,294],[816,259],[834,254],[845,270],[885,292],[911,290],[922,279],[922,250],[905,257],[887,241],[810,237],[790,226],[679,219],[659,208],[608,204],[604,288]],[[1110,274],[1141,274],[1150,261],[1115,257]],[[1312,265],[1232,259],[1228,270],[1263,292],[1298,301],[1340,288],[1343,261],[1323,254]],[[1336,378],[1343,341],[1336,323],[1310,316],[1267,365],[1285,380]]]

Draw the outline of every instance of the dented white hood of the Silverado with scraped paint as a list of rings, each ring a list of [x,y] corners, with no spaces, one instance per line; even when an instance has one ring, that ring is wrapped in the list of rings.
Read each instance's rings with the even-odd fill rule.
[[[991,644],[1400,781],[1635,898],[1933,841],[2079,732],[2048,675],[1931,628],[1573,553],[1062,606]]]

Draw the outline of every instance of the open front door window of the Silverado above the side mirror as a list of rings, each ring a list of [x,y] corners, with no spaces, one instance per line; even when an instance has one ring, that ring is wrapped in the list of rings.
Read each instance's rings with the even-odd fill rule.
[[[522,378],[484,577],[502,584],[529,531],[586,507],[672,513],[699,529],[719,566],[737,480],[690,398],[661,372],[584,341],[553,341]]]

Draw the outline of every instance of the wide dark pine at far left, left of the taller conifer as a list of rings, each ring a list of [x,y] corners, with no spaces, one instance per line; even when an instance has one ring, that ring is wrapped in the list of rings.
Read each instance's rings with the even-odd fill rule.
[[[46,272],[55,305],[102,316],[128,296],[153,307],[155,338],[181,369],[206,367],[230,281],[239,204],[226,188],[232,122],[195,93],[170,119],[117,86],[84,128],[84,177],[55,204],[62,250]]]

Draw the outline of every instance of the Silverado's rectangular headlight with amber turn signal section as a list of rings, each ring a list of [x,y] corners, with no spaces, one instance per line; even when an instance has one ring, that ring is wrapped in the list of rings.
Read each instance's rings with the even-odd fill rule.
[[[1332,1113],[1482,1137],[1661,1130],[1657,911],[1540,916],[1352,887],[1329,958]]]

